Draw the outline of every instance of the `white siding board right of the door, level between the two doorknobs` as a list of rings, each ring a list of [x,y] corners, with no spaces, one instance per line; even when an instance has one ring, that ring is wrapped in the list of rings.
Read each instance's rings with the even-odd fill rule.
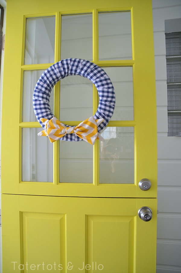
[[[171,184],[172,181],[170,181]],[[181,213],[181,190],[158,190],[158,210]]]

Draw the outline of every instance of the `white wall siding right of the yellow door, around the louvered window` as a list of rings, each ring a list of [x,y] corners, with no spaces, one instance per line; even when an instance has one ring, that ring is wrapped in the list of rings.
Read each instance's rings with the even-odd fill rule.
[[[181,0],[153,0],[152,4],[158,135],[157,273],[176,273],[181,272],[181,137],[167,136],[165,20],[181,18]]]

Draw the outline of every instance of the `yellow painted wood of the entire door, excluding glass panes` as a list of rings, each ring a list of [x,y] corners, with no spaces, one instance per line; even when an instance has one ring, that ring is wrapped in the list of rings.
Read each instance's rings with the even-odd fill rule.
[[[133,59],[99,61],[98,12],[127,10],[131,11],[132,19]],[[46,70],[52,65],[24,65],[26,18],[56,16],[54,61],[57,62],[61,58],[61,15],[81,13],[93,14],[94,63],[101,67],[133,67],[134,121],[111,120],[108,126],[134,127],[135,181],[99,184],[99,142],[96,141],[92,184],[59,183],[59,142],[52,144],[53,183],[22,182],[22,128],[40,127],[38,122],[22,122],[23,72]],[[57,83],[54,88],[57,118],[59,90],[60,83]],[[97,104],[94,87],[93,113]],[[81,121],[62,122],[77,125]],[[99,268],[105,273],[155,272],[157,149],[151,0],[52,0],[51,5],[48,0],[26,3],[7,0],[1,158],[3,273],[55,272],[55,266],[56,270],[62,268],[63,273],[98,272]],[[142,178],[152,182],[146,192],[138,187]],[[144,222],[138,217],[142,206],[152,209],[151,221]],[[145,253],[149,266],[143,259]]]

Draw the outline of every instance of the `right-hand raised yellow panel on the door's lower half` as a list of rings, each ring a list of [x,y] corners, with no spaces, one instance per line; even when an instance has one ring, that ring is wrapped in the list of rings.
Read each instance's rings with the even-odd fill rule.
[[[103,272],[134,272],[134,229],[135,216],[88,215],[88,264]]]

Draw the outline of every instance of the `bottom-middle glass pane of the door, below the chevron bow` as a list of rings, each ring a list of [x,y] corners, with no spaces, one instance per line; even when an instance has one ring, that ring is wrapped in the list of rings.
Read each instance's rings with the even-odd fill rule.
[[[59,181],[93,183],[93,146],[86,141],[60,141]]]

